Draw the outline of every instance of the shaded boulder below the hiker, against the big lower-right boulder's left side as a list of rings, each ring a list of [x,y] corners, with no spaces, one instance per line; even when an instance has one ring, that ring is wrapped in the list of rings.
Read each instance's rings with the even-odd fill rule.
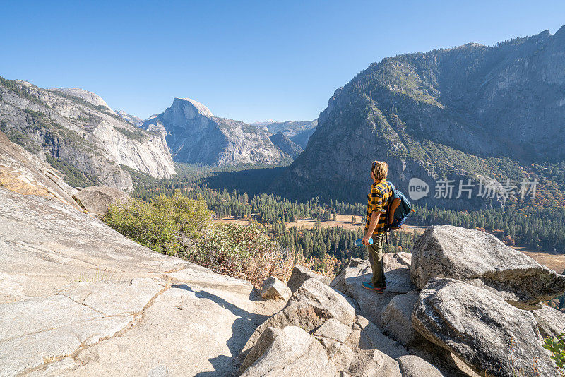
[[[381,327],[383,333],[403,345],[409,345],[417,340],[417,333],[412,327],[412,311],[418,301],[417,291],[399,294],[383,308],[381,312]]]

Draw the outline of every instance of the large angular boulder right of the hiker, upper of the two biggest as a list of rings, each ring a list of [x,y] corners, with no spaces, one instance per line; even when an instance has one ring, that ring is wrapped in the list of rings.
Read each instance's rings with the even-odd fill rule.
[[[522,308],[565,292],[564,275],[506,246],[492,234],[451,225],[428,227],[417,239],[410,277],[420,289],[432,277],[463,280]]]

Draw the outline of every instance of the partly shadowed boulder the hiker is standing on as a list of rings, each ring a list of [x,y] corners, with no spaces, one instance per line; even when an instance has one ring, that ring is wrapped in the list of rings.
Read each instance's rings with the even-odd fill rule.
[[[381,323],[381,311],[397,294],[412,291],[410,282],[410,254],[385,253],[383,256],[386,289],[379,294],[362,287],[362,282],[372,276],[371,264],[367,260],[353,258],[348,261],[330,286],[355,299],[363,316],[374,323]]]

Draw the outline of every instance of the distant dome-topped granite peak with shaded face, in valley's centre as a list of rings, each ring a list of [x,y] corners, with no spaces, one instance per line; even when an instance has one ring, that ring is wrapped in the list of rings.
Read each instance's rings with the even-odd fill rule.
[[[171,107],[150,117],[142,128],[165,136],[177,162],[227,166],[278,164],[289,158],[260,127],[218,118],[189,98],[175,98]]]

